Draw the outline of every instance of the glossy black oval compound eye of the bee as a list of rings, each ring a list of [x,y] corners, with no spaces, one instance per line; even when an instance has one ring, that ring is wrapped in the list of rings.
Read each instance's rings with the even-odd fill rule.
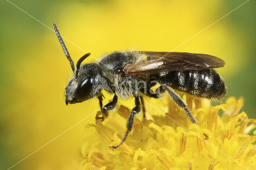
[[[92,90],[92,78],[86,77],[85,79],[82,80],[82,82],[76,88],[75,99],[77,101],[87,100],[91,90]]]

